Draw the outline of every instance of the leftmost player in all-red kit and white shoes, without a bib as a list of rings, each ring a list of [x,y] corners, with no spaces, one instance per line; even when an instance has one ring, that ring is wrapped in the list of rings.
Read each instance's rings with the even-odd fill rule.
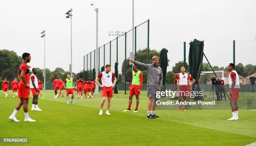
[[[17,118],[15,117],[16,113],[18,113],[21,106],[23,106],[24,114],[25,114],[25,122],[34,122],[36,120],[33,120],[28,116],[28,99],[29,99],[29,68],[27,63],[30,62],[31,56],[29,53],[23,53],[22,54],[23,62],[20,64],[18,69],[18,78],[20,80],[20,83],[18,85],[18,98],[20,98],[20,102],[14,109],[13,113],[9,117],[9,120],[19,122]]]

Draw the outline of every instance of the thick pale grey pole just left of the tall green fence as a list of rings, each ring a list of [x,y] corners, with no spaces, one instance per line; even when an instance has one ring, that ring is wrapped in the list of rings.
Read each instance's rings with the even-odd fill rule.
[[[98,13],[99,13],[99,8],[95,8],[95,3],[92,2],[91,5],[94,6],[94,10],[96,12],[96,66],[95,66],[95,72],[96,72],[96,76],[99,74],[99,70],[98,70],[98,62],[99,62],[99,52],[98,52]],[[99,93],[99,86],[96,84],[95,86],[95,93]]]

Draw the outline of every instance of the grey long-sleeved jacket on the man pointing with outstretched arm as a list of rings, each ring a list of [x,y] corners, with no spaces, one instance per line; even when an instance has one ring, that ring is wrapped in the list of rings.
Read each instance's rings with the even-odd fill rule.
[[[147,86],[157,86],[162,88],[163,84],[163,71],[159,66],[152,64],[145,64],[138,61],[134,61],[134,65],[142,66],[146,68],[148,73]]]

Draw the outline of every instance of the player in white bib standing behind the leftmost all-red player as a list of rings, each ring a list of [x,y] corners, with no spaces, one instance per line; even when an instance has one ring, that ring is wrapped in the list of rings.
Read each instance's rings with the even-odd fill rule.
[[[32,91],[33,94],[33,101],[32,101],[32,108],[31,111],[42,111],[39,107],[38,107],[38,80],[36,77],[37,74],[37,69],[36,68],[32,68],[32,74],[30,76],[30,89]]]

